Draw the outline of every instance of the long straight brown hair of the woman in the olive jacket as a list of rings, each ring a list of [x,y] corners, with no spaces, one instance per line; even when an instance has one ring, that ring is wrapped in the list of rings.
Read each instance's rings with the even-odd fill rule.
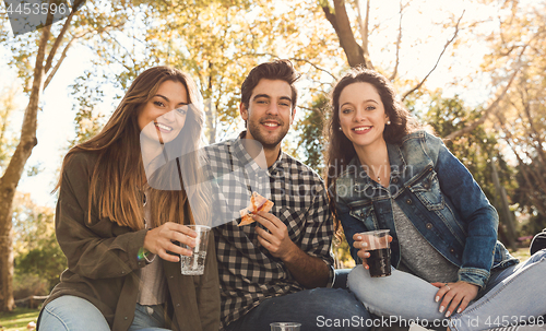
[[[159,190],[151,188],[142,162],[138,117],[144,105],[156,94],[166,81],[180,82],[187,91],[191,104],[186,115],[185,127],[177,138],[183,155],[177,161],[191,184],[182,184],[181,190]],[[151,204],[151,224],[156,227],[166,222],[200,224],[210,222],[210,193],[203,189],[203,156],[199,152],[204,113],[201,96],[193,80],[180,70],[169,67],[147,69],[136,76],[103,130],[88,141],[72,147],[63,159],[62,174],[75,153],[96,154],[96,163],[91,174],[88,194],[88,220],[92,206],[98,208],[99,217],[109,217],[120,226],[134,230],[144,228],[143,191],[147,190]],[[173,163],[170,163],[171,165]],[[147,178],[150,179],[150,178]],[[191,202],[191,210],[190,210]]]

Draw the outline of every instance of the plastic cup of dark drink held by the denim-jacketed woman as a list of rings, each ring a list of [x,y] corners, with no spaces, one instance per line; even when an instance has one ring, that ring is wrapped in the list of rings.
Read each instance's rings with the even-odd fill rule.
[[[389,245],[389,230],[379,229],[360,234],[363,241],[368,244],[367,258],[370,276],[384,277],[391,275],[391,247]]]

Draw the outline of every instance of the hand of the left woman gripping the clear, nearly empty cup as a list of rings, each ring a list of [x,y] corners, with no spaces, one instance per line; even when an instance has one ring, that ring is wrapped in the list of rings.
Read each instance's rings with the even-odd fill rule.
[[[167,222],[146,233],[144,248],[166,261],[178,262],[180,261],[179,255],[190,257],[191,250],[176,245],[174,241],[195,247],[195,237],[197,233],[186,225]]]

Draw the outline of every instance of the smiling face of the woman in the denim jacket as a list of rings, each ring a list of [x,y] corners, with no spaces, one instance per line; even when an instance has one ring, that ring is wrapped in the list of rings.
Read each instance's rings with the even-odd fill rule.
[[[353,83],[340,94],[340,126],[355,150],[384,142],[388,116],[376,87],[370,83]]]

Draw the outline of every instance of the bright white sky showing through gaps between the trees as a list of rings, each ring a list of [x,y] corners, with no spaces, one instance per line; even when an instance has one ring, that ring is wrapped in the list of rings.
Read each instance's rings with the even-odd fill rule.
[[[363,1],[364,2],[364,1]],[[416,1],[419,2],[419,1]],[[414,2],[413,2],[414,3]],[[401,60],[401,75],[425,76],[434,67],[443,45],[453,34],[453,29],[442,29],[435,23],[442,22],[453,13],[456,17],[464,11],[464,21],[474,21],[484,15],[483,8],[466,0],[422,0],[420,5],[412,5],[405,12],[403,19],[404,36],[402,47],[405,49],[404,58]],[[373,7],[371,11],[371,23],[381,22],[380,34],[395,35],[397,28],[399,0],[381,1],[380,7]],[[329,24],[324,19],[324,24]],[[461,32],[464,37],[465,32]],[[393,45],[383,43],[382,39],[370,39],[370,55],[377,59],[381,66],[388,67],[393,61]],[[484,45],[468,40],[455,50],[456,57],[452,57],[452,48],[448,49],[436,71],[427,81],[427,86],[441,87],[447,95],[460,94],[468,104],[480,104],[489,97],[489,88],[479,88],[484,81],[475,75],[473,81],[461,84],[458,76],[475,72],[479,68],[484,54],[487,51]],[[91,59],[94,55],[88,48],[76,46],[61,66],[59,72],[51,81],[43,95],[43,111],[38,115],[38,145],[34,147],[29,166],[38,166],[41,172],[32,177],[23,176],[17,190],[29,192],[32,199],[38,205],[54,206],[56,198],[50,194],[55,187],[58,169],[60,168],[62,156],[67,152],[68,141],[74,138],[73,110],[74,101],[70,96],[69,85],[91,67]],[[10,68],[8,62],[8,51],[0,48],[0,70],[3,72],[0,81],[0,88],[11,82],[16,82],[16,73]],[[345,61],[345,59],[343,59]],[[302,83],[305,84],[305,82]],[[99,106],[104,114],[109,114],[112,109],[114,96],[120,91],[107,91],[107,96],[103,105]],[[19,96],[21,110],[11,119],[14,131],[21,128],[23,108],[27,101],[24,96]]]

